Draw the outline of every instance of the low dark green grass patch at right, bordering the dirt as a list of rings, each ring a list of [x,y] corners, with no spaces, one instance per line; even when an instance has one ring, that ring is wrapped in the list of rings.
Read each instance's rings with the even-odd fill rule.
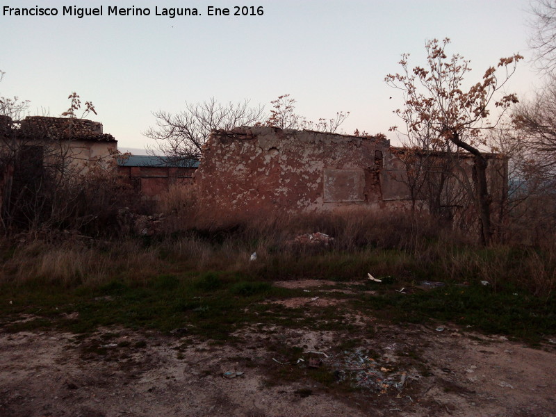
[[[454,322],[490,334],[505,334],[530,343],[556,334],[556,297],[540,300],[511,288],[448,285],[411,294],[386,293],[355,302],[394,322]]]

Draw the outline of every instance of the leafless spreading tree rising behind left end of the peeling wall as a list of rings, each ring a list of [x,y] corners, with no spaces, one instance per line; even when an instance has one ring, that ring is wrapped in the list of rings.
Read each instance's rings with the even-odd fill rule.
[[[157,111],[156,127],[143,133],[156,141],[148,149],[152,155],[162,153],[162,163],[184,165],[198,161],[201,149],[212,130],[229,130],[250,126],[263,120],[263,106],[252,107],[248,100],[222,104],[214,97],[202,103],[186,102],[186,110],[172,114]]]

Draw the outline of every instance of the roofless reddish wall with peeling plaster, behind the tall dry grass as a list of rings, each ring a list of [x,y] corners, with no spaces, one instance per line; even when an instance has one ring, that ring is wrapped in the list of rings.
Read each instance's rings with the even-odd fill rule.
[[[395,150],[384,136],[262,126],[214,131],[195,172],[199,203],[205,213],[236,220],[362,208],[400,211],[411,206],[411,193],[407,165]],[[459,158],[471,170],[471,156]],[[507,175],[507,161],[500,164],[502,177],[493,188],[503,188]],[[494,181],[496,164],[490,165]],[[455,191],[463,193],[461,186]]]

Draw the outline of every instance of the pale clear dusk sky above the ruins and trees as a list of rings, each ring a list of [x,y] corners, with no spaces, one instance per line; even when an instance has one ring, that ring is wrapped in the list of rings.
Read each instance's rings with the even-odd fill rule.
[[[234,16],[234,6],[262,15]],[[9,8],[56,8],[56,16],[8,15]],[[64,6],[99,8],[103,15],[63,15]],[[150,15],[108,15],[108,8],[148,8]],[[198,16],[156,15],[196,8]],[[229,8],[209,16],[208,6]],[[8,9],[6,9],[8,8]],[[6,11],[8,10],[8,11]],[[289,94],[309,120],[350,116],[341,126],[386,133],[400,124],[398,90],[384,83],[409,64],[425,63],[425,42],[450,38],[450,54],[471,60],[477,82],[501,57],[525,62],[507,85],[521,100],[541,82],[530,61],[528,0],[0,0],[0,97],[30,101],[31,115],[58,116],[77,92],[92,101],[104,133],[122,151],[145,154],[142,132],[154,111],[177,113],[188,103],[249,99],[265,105]]]

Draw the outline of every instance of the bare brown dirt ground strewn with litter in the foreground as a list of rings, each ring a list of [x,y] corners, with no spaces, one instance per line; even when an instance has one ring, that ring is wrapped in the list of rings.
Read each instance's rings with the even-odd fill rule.
[[[0,332],[0,416],[556,416],[553,345],[464,330],[379,326],[351,347],[340,331],[256,325],[223,344]]]

